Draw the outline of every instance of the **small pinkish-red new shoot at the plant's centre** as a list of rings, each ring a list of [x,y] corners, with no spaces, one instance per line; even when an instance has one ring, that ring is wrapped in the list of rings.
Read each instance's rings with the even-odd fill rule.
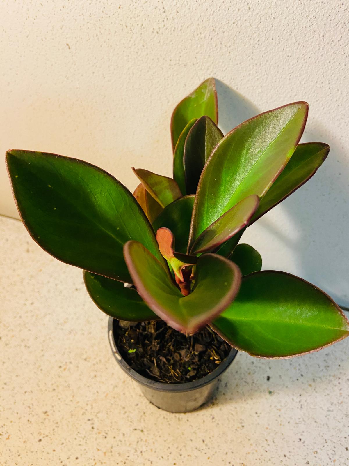
[[[188,279],[197,258],[194,256],[194,260],[191,260],[191,256],[180,254],[182,260],[179,259],[180,256],[175,253],[175,237],[168,228],[159,228],[156,232],[156,240],[162,256],[174,271],[175,281],[181,288],[182,295],[187,296],[190,293],[190,281]]]

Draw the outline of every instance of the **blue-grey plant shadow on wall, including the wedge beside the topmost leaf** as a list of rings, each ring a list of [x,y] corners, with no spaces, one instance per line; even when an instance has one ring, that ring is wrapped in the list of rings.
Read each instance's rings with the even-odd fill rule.
[[[220,109],[219,126],[223,134],[260,112],[260,109],[223,82],[216,80],[216,88]],[[282,270],[311,281],[326,291],[339,305],[348,308],[349,225],[348,206],[345,210],[343,199],[349,199],[349,171],[342,162],[345,157],[343,148],[331,139],[326,128],[314,122],[314,117],[309,118],[302,142],[323,139],[331,148],[330,156],[325,160],[323,167],[320,167],[308,183],[276,206],[274,211],[267,213],[251,226],[249,233],[251,242],[257,235],[262,235],[264,241],[265,234],[270,248],[268,262],[272,268],[282,267],[282,262],[280,263],[280,258],[277,257],[279,254],[275,254],[275,257],[272,255],[271,235],[295,258],[296,269],[288,270],[282,267]],[[279,209],[282,214],[286,214],[294,235],[285,233],[284,228],[278,225]],[[255,246],[259,247],[259,244]],[[334,258],[340,258],[340,262]]]

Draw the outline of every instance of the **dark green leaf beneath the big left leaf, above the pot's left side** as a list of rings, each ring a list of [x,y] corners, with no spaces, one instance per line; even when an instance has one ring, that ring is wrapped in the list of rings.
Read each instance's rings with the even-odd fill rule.
[[[88,294],[96,306],[114,319],[131,322],[156,320],[159,317],[150,310],[135,288],[124,286],[121,281],[102,275],[83,272]]]

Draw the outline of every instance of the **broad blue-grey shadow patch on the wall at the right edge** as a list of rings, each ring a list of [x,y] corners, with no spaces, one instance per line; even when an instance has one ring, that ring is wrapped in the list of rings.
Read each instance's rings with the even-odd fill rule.
[[[340,306],[348,308],[349,225],[348,204],[343,199],[349,199],[349,171],[341,163],[344,155],[340,146],[324,135],[326,129],[321,125],[310,126],[306,139],[325,137],[331,148],[330,157],[309,184],[286,199],[281,208],[297,228],[292,254],[298,257],[301,276],[309,277]]]

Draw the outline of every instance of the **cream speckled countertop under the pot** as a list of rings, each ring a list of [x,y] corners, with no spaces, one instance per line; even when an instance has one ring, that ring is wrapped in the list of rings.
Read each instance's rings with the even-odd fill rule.
[[[160,411],[117,366],[81,270],[0,218],[0,465],[349,465],[349,339],[239,353],[214,400]]]

